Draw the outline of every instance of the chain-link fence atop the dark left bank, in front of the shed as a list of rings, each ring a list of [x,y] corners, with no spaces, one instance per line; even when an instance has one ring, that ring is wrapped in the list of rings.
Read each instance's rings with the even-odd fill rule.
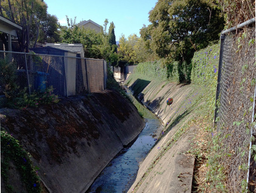
[[[102,59],[0,51],[0,107],[15,89],[27,93],[53,87],[58,96],[105,90],[107,65]]]

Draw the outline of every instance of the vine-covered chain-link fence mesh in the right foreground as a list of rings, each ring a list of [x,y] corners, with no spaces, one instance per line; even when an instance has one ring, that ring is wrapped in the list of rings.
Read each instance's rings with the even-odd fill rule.
[[[215,128],[222,132],[226,155],[229,155],[221,160],[228,176],[229,192],[242,192],[244,179],[254,191],[255,163],[249,149],[251,136],[255,135],[251,125],[255,121],[255,20],[250,26],[227,32],[221,36]]]

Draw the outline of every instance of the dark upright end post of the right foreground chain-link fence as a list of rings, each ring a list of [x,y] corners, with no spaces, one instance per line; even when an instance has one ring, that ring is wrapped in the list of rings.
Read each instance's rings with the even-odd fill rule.
[[[221,68],[222,68],[222,56],[223,56],[223,45],[225,36],[221,35],[221,46],[219,51],[219,67],[218,67],[218,80],[217,80],[217,89],[216,89],[216,99],[215,99],[215,113],[214,113],[214,123],[213,128],[215,127],[215,121],[218,116],[218,106],[217,106],[217,100],[219,99],[219,91],[220,91],[220,82],[221,82]]]

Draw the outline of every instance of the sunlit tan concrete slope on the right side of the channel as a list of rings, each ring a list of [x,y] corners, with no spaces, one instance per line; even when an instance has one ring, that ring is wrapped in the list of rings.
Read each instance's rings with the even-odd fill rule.
[[[133,88],[136,81],[130,81]],[[141,164],[130,192],[191,192],[194,157],[187,153],[196,128],[181,132],[183,126],[193,118],[193,111],[200,102],[194,101],[200,88],[195,85],[150,82],[138,95],[165,123],[165,131],[160,140]],[[166,99],[172,97],[172,105]],[[197,100],[200,100],[199,97]],[[169,124],[169,125],[168,125]]]

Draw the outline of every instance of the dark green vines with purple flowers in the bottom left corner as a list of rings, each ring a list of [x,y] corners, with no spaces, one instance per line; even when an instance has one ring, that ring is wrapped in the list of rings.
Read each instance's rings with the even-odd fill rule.
[[[28,193],[41,193],[42,187],[36,168],[32,165],[30,155],[20,146],[19,141],[12,137],[12,134],[1,128],[1,178],[5,182],[7,193],[14,192],[14,188],[9,184],[8,171],[10,162],[18,170],[21,181]]]

